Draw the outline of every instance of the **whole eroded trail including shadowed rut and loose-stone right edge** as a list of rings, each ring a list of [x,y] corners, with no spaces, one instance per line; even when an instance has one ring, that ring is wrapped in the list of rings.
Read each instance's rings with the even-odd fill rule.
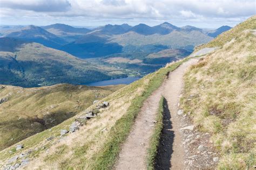
[[[156,158],[156,169],[214,168],[217,154],[210,143],[210,134],[194,130],[190,118],[179,110],[183,75],[198,59],[184,62],[169,74],[168,79],[143,104],[133,129],[122,146],[116,169],[146,169],[146,155],[154,130],[159,101],[164,101],[164,128]]]

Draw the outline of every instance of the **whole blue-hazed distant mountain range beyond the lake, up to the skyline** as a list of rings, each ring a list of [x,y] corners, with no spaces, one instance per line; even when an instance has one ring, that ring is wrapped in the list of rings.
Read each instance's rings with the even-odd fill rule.
[[[65,24],[0,26],[0,83],[34,87],[145,75],[228,29],[205,31],[167,22],[108,24],[93,30]]]

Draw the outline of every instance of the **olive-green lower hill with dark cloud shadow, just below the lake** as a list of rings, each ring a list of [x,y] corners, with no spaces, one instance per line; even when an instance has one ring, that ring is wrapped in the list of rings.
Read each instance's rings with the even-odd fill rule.
[[[0,150],[75,116],[121,87],[0,86]]]

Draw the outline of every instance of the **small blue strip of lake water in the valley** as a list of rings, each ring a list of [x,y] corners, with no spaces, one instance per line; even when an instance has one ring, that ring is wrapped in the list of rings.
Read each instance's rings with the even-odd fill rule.
[[[121,78],[121,79],[97,81],[97,82],[93,82],[93,83],[87,83],[85,85],[86,86],[110,86],[110,85],[117,85],[117,84],[130,84],[139,79],[140,79],[140,77],[125,77],[125,78]]]

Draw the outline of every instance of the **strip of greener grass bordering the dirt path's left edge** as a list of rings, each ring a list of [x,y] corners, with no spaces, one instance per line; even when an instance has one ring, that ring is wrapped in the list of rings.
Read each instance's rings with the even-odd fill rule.
[[[121,144],[125,141],[129,135],[135,118],[137,117],[143,102],[149,97],[154,90],[161,86],[165,79],[165,75],[168,72],[176,69],[181,63],[186,61],[184,59],[179,62],[175,62],[169,67],[161,68],[156,73],[150,74],[145,79],[150,79],[149,84],[145,87],[142,95],[137,96],[131,103],[126,114],[120,118],[116,124],[111,128],[109,138],[97,154],[93,157],[93,162],[90,162],[92,169],[111,169],[116,162],[118,153],[121,149]],[[136,88],[136,87],[134,87]]]

